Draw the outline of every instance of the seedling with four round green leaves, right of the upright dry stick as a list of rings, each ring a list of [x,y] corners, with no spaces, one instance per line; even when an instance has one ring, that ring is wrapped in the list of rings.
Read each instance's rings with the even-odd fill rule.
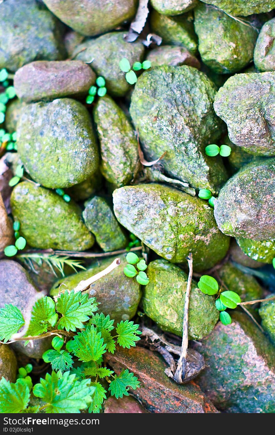
[[[222,291],[219,290],[219,284],[209,275],[202,275],[199,282],[198,287],[200,291],[204,294],[218,294],[218,298],[215,300],[215,305],[218,311],[220,311],[219,319],[223,323],[223,325],[230,325],[231,317],[228,312],[226,312],[226,308],[234,309],[241,302],[241,298],[239,294],[235,293],[235,291]]]

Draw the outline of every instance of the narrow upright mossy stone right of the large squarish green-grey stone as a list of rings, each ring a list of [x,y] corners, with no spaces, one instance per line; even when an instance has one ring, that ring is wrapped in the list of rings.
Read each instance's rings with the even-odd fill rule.
[[[133,180],[139,167],[138,142],[123,110],[106,95],[93,111],[99,137],[103,177],[115,187]]]

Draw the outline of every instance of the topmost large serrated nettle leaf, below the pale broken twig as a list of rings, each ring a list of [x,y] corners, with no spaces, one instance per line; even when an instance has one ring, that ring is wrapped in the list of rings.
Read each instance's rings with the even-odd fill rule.
[[[96,298],[89,298],[88,293],[73,290],[61,293],[56,301],[56,310],[62,314],[58,323],[58,329],[76,331],[83,328],[83,323],[89,320],[89,316],[97,310]]]

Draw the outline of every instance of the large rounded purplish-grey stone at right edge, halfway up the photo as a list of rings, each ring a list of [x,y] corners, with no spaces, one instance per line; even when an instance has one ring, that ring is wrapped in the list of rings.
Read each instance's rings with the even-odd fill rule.
[[[274,238],[274,189],[275,158],[243,167],[229,178],[214,201],[219,229],[236,238]]]

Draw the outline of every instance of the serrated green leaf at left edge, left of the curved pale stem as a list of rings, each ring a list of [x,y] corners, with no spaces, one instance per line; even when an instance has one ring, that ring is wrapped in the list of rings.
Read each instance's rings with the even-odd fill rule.
[[[0,309],[0,340],[7,343],[25,324],[21,311],[12,304],[5,304]]]

